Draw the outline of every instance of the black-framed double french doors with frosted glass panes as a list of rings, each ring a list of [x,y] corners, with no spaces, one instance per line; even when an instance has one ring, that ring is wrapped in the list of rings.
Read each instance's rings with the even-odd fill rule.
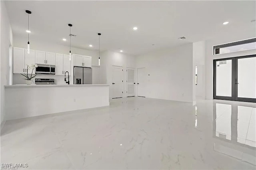
[[[215,59],[214,99],[256,102],[256,55]]]

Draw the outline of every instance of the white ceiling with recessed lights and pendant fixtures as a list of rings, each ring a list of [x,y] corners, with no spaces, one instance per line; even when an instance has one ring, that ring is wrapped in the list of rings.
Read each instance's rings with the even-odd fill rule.
[[[139,55],[148,51],[242,32],[255,34],[256,1],[6,1],[12,31],[27,40]],[[228,25],[222,25],[229,21]],[[138,27],[137,31],[132,28]],[[178,40],[185,36],[186,40]],[[88,45],[94,45],[92,48]],[[152,45],[155,44],[155,45]]]

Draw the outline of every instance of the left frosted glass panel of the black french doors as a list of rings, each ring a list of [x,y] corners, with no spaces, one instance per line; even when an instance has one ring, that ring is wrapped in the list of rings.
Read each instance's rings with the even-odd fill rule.
[[[216,96],[232,97],[232,60],[216,61]]]

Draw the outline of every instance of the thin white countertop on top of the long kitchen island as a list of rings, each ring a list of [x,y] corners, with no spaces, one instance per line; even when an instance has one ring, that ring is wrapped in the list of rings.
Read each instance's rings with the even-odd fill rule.
[[[5,85],[4,87],[86,87],[86,86],[109,86],[107,84],[99,84],[99,85],[68,85],[68,84],[62,84],[62,85]]]

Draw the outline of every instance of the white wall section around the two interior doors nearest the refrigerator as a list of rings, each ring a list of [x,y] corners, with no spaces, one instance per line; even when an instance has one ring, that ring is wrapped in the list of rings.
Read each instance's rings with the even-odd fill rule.
[[[111,85],[112,85],[112,65],[122,66],[124,69],[124,82],[123,82],[123,97],[126,97],[126,68],[136,68],[136,59],[134,56],[126,55],[124,53],[114,51],[103,51],[100,54],[100,84],[110,85],[110,98],[112,97]]]

